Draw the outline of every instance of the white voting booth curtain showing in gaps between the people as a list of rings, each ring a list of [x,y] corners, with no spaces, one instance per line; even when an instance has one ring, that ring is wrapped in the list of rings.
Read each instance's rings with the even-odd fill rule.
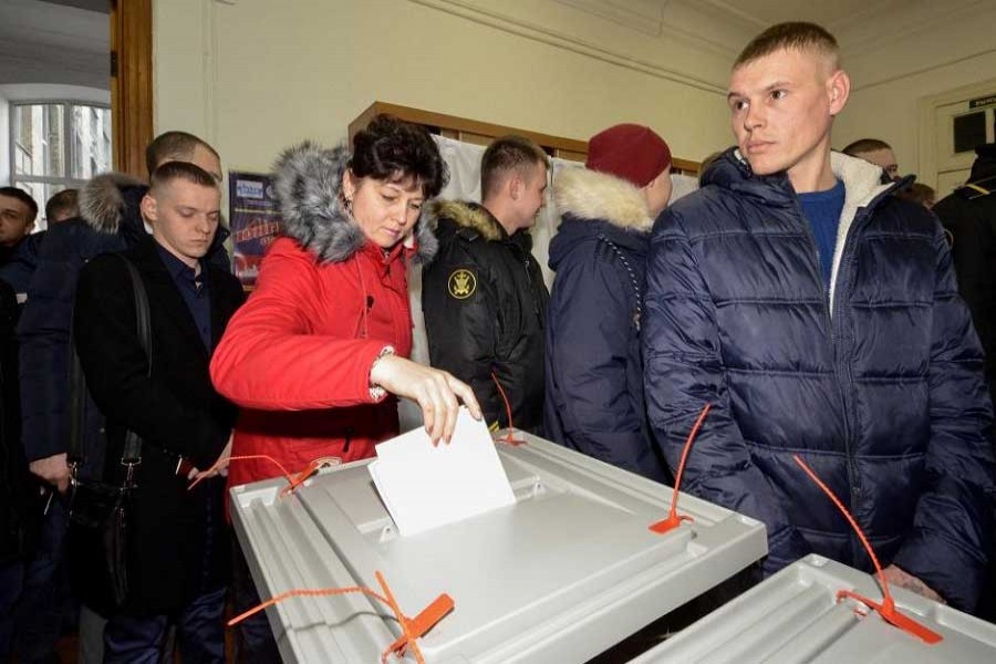
[[[480,157],[484,155],[485,146],[474,145],[446,138],[444,136],[433,136],[439,146],[439,153],[449,167],[449,184],[439,194],[439,198],[447,200],[473,200],[480,203]],[[583,167],[579,162],[568,159],[552,158],[551,163],[551,186],[547,187],[547,205],[542,208],[536,218],[536,226],[532,227],[532,255],[539,262],[543,280],[547,288],[553,286],[553,271],[547,266],[550,256],[550,240],[557,232],[560,224],[560,215],[553,209],[553,187],[552,183],[557,180],[557,176],[564,168]],[[693,191],[698,186],[695,178],[675,175],[672,176],[674,184],[674,194],[672,200],[676,200],[681,196]],[[425,335],[425,318],[422,314],[422,266],[412,266],[408,271],[408,298],[412,307],[412,322],[414,324],[412,335],[412,360],[422,364],[429,364],[428,341]],[[398,405],[398,415],[401,417],[401,430],[405,432],[422,425],[422,411],[414,403],[401,401]]]

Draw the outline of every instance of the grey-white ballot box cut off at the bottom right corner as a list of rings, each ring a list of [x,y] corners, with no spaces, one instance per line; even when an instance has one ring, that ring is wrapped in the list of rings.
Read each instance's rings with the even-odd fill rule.
[[[808,556],[630,664],[996,662],[992,623],[890,587],[901,613],[941,635],[928,645],[859,602],[838,602],[840,590],[882,600],[872,575]]]

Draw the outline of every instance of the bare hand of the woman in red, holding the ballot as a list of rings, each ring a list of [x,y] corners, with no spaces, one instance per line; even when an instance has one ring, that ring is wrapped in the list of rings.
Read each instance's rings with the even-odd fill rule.
[[[449,443],[453,437],[460,406],[457,398],[464,402],[475,419],[481,417],[480,406],[469,385],[445,371],[397,355],[385,355],[377,360],[370,371],[370,382],[391,394],[417,403],[433,445],[437,445],[440,438]]]

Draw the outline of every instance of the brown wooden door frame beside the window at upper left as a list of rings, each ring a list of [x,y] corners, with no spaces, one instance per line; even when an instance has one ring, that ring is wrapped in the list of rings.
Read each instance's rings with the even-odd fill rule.
[[[145,179],[153,139],[152,0],[111,2],[111,122],[114,168]]]

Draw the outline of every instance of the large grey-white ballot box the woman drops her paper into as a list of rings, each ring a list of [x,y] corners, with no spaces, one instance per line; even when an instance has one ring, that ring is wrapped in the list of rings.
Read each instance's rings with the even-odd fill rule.
[[[651,532],[667,516],[670,487],[516,436],[525,443],[497,445],[513,505],[409,537],[394,528],[369,460],[322,470],[282,497],[283,478],[235,487],[232,522],[260,595],[378,590],[380,571],[408,616],[440,593],[453,598],[418,639],[427,663],[569,664],[767,553],[762,523],[686,495],[678,512],[694,521]],[[373,664],[402,634],[391,610],[362,594],[294,596],[267,614],[287,662]]]

